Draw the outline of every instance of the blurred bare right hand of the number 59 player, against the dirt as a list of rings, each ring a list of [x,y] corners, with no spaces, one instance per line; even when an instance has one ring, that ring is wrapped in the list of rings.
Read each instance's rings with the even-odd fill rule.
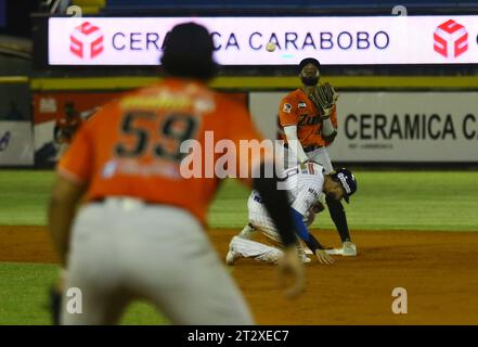
[[[293,284],[287,285],[287,277],[293,277]],[[284,249],[284,257],[279,261],[279,280],[282,287],[286,287],[285,294],[289,297],[298,296],[306,286],[306,271],[302,260],[299,258],[296,246]]]

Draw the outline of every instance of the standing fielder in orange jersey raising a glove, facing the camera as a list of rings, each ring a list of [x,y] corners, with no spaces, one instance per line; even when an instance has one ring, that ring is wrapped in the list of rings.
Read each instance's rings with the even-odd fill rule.
[[[327,146],[337,136],[337,94],[330,85],[326,85],[331,93],[324,95],[323,103],[318,102],[320,97],[316,98],[316,91],[321,91],[324,87],[319,85],[319,61],[313,57],[300,62],[299,77],[302,87],[282,99],[279,118],[284,130],[282,139],[285,141],[287,166],[293,167],[297,163],[312,160],[321,164],[325,174],[331,174],[334,169]],[[340,253],[344,256],[356,256],[357,247],[350,239],[344,206],[330,196],[326,196],[325,201],[343,242]]]

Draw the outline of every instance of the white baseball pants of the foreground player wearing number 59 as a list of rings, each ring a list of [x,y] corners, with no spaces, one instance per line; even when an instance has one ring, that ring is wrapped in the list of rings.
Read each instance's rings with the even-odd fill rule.
[[[65,293],[82,313],[62,324],[114,324],[146,299],[172,324],[253,324],[248,306],[201,223],[184,209],[109,198],[81,208],[73,227]]]

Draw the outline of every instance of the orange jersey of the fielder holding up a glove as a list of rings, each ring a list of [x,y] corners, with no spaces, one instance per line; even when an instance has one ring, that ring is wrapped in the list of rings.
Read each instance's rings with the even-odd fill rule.
[[[319,110],[310,101],[302,89],[296,89],[282,99],[279,119],[281,126],[297,126],[297,138],[303,147],[306,146],[326,146],[328,141],[322,137],[322,121]],[[337,128],[337,108],[334,105],[331,115],[332,124]],[[286,141],[282,134],[281,140]]]

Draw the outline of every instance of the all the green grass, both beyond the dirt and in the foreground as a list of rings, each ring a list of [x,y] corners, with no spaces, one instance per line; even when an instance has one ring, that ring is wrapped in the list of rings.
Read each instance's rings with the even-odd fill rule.
[[[357,171],[357,194],[347,206],[352,230],[478,231],[478,174],[475,171]],[[52,171],[0,171],[0,226],[44,226]],[[211,228],[242,228],[248,192],[222,184],[209,210]],[[314,228],[332,229],[327,214]],[[0,227],[1,232],[1,227]],[[0,264],[0,324],[49,324],[47,288],[52,265]],[[144,304],[130,307],[124,324],[164,324]]]

